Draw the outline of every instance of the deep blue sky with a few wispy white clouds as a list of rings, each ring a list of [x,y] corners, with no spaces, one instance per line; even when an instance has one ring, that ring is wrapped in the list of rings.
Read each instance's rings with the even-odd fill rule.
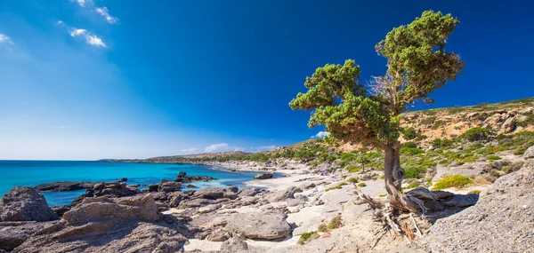
[[[364,81],[382,75],[374,45],[428,9],[461,21],[448,48],[466,62],[430,107],[534,95],[528,1],[365,2],[3,0],[0,159],[255,152],[305,140],[322,129],[287,106],[305,76],[344,59]]]

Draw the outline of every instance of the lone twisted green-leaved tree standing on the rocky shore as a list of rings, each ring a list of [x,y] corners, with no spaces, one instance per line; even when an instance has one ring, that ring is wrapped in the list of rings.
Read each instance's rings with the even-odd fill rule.
[[[398,210],[424,210],[421,202],[401,194],[401,114],[417,100],[432,103],[429,94],[461,72],[464,62],[445,50],[458,23],[450,14],[423,12],[376,44],[378,55],[387,59],[384,75],[364,84],[354,60],[327,64],[306,77],[308,91],[289,103],[293,109],[312,110],[310,127],[325,125],[333,138],[384,150],[385,186],[390,204]]]

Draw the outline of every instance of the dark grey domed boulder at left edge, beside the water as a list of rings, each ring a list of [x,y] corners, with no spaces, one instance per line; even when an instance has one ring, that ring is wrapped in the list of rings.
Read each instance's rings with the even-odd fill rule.
[[[58,218],[43,194],[33,187],[13,187],[0,200],[0,221],[51,221]]]

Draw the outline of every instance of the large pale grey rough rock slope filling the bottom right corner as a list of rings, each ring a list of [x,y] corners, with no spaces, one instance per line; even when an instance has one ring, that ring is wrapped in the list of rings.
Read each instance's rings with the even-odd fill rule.
[[[479,201],[439,219],[425,234],[428,252],[530,252],[534,228],[534,161],[498,178]]]

